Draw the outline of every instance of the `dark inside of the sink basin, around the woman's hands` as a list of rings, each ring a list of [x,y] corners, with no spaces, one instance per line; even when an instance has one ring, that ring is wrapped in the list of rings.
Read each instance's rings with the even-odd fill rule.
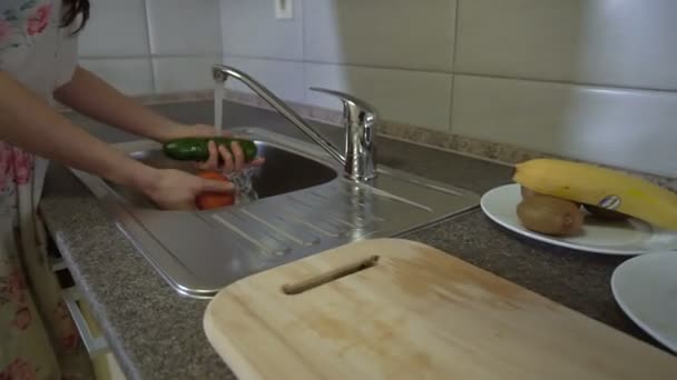
[[[266,163],[257,169],[252,177],[252,184],[259,199],[306,189],[328,182],[337,177],[336,170],[318,161],[263,141],[255,141],[255,143],[258,156],[266,159]],[[190,162],[167,158],[159,144],[150,143],[137,147],[139,150],[129,151],[129,154],[150,167],[196,172]],[[108,181],[106,184],[136,207],[156,209],[146,196],[134,189]]]

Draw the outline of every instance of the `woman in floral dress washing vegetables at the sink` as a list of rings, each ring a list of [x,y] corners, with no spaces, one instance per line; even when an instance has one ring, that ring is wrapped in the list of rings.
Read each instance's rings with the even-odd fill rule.
[[[144,166],[55,111],[52,98],[157,141],[215,134],[156,114],[80,68],[77,32],[88,16],[88,0],[0,1],[0,379],[91,376],[45,260],[36,216],[45,159],[137,188],[164,208],[190,209],[202,191],[232,191],[225,182]],[[243,152],[232,148],[233,156],[223,147],[218,153],[225,170],[239,170]],[[214,143],[209,150],[205,166],[214,168],[219,154]]]

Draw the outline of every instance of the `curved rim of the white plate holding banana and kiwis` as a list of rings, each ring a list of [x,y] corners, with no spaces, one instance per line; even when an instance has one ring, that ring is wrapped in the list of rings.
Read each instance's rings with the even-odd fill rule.
[[[585,251],[585,252],[591,252],[591,253],[637,256],[637,254],[646,254],[649,252],[654,252],[654,251],[647,250],[647,249],[616,249],[616,248],[610,248],[610,247],[605,248],[605,247],[586,246],[586,244],[566,241],[566,240],[562,240],[557,237],[549,237],[547,234],[533,232],[533,231],[527,230],[526,228],[523,228],[521,226],[514,226],[512,223],[509,223],[509,222],[502,220],[500,217],[496,216],[493,212],[491,212],[491,210],[488,209],[487,199],[489,199],[490,197],[496,194],[496,192],[506,191],[508,188],[512,188],[512,187],[519,187],[519,184],[518,183],[508,183],[508,184],[499,186],[497,188],[493,188],[493,189],[484,192],[484,194],[482,194],[482,198],[480,199],[480,207],[481,207],[482,211],[484,212],[484,214],[487,217],[489,217],[489,219],[493,220],[496,223],[498,223],[513,232],[517,232],[523,237],[531,238],[531,239],[534,239],[534,240],[538,240],[541,242],[550,243],[553,246],[575,249],[575,250]],[[516,207],[517,207],[517,204],[516,204]],[[663,249],[663,250],[665,251],[666,249]]]

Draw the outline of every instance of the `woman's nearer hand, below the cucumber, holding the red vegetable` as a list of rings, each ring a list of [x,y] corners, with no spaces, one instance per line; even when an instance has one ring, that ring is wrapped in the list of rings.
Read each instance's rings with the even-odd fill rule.
[[[232,192],[233,183],[210,180],[181,170],[156,170],[141,187],[159,208],[166,210],[195,210],[195,200],[202,192]]]

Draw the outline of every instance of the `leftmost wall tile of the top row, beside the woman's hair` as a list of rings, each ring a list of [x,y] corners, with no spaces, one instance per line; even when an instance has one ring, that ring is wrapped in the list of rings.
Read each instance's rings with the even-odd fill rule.
[[[144,0],[97,0],[79,34],[81,57],[148,54]]]

